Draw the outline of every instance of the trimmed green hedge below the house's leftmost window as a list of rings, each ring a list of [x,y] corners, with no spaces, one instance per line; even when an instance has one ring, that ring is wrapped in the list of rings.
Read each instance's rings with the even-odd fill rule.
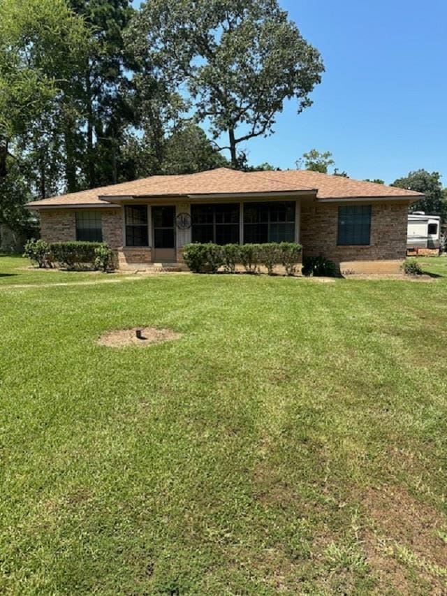
[[[45,242],[29,240],[24,255],[40,268],[54,266],[73,269],[115,269],[115,254],[103,242]]]

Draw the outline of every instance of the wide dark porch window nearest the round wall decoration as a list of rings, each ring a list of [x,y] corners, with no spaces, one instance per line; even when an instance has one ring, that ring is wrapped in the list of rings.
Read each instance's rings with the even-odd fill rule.
[[[193,242],[239,243],[239,203],[191,205]]]

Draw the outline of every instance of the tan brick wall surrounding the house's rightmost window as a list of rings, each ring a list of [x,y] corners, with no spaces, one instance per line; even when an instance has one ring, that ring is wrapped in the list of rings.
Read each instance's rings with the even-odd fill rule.
[[[323,254],[343,261],[400,260],[406,254],[406,203],[372,203],[369,246],[337,246],[338,206],[302,205],[301,243],[304,256]]]

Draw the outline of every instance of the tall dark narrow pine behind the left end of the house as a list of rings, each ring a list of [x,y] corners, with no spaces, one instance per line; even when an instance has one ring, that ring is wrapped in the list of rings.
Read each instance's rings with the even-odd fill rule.
[[[89,52],[74,89],[80,116],[67,149],[82,146],[85,186],[117,182],[118,153],[124,131],[136,124],[131,73],[135,62],[124,48],[123,31],[135,13],[129,0],[69,0],[89,31]],[[76,129],[82,129],[77,136]],[[73,155],[72,160],[75,161]],[[75,183],[69,177],[68,189]]]

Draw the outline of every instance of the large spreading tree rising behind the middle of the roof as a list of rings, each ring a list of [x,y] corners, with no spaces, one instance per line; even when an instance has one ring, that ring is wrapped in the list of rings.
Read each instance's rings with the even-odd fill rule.
[[[197,122],[223,133],[237,167],[240,143],[272,133],[286,99],[301,112],[321,82],[318,51],[277,0],[150,0],[133,20],[129,45],[183,85]],[[149,79],[150,84],[150,79]]]

